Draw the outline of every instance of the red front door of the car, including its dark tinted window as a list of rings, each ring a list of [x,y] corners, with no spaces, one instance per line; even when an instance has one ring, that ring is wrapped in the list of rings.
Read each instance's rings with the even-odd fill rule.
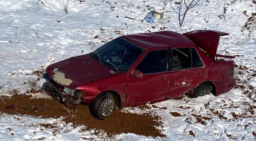
[[[126,104],[130,107],[164,99],[168,92],[170,73],[169,50],[150,51],[135,68],[143,73],[138,79],[128,74]]]

